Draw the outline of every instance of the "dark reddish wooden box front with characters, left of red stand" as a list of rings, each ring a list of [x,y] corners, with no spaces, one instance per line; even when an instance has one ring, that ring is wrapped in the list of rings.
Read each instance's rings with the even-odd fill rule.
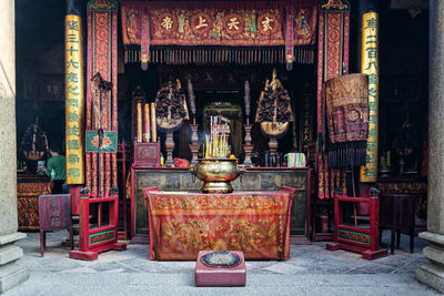
[[[40,228],[59,231],[72,225],[71,194],[39,196]]]

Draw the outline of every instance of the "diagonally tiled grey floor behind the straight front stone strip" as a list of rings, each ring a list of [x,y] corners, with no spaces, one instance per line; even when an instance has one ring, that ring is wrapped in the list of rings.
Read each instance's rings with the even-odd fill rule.
[[[385,237],[383,242],[390,242]],[[124,252],[107,252],[99,255],[98,261],[84,262],[70,259],[68,248],[62,242],[68,232],[47,234],[48,247],[44,257],[40,257],[39,233],[28,233],[28,237],[18,243],[24,256],[19,264],[29,266],[30,271],[50,273],[188,273],[194,268],[194,262],[154,262],[149,259],[149,246],[129,244]],[[387,238],[387,239],[386,239]],[[264,261],[246,262],[250,273],[261,274],[396,274],[412,273],[427,261],[422,256],[425,242],[416,238],[415,253],[408,253],[407,236],[402,237],[404,244],[395,249],[394,255],[376,261],[364,261],[360,254],[325,248],[325,243],[317,242],[311,245],[293,245],[291,258],[283,262]],[[384,245],[389,247],[389,245]]]

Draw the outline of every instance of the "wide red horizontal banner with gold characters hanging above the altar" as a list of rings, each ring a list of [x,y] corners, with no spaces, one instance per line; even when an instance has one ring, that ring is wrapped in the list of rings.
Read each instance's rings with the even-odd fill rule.
[[[150,11],[150,45],[285,45],[282,8],[153,8],[149,2],[122,3],[123,44],[141,44],[144,9]],[[294,45],[314,44],[316,6],[291,9]]]

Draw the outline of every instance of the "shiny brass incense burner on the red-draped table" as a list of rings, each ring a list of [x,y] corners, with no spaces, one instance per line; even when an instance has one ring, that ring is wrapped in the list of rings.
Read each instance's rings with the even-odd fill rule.
[[[231,193],[231,181],[245,172],[238,160],[232,159],[201,159],[198,164],[191,165],[190,173],[203,181],[203,193]]]

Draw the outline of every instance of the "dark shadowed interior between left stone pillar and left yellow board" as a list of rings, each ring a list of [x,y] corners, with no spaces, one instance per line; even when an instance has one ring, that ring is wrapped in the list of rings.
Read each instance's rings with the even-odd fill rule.
[[[84,13],[87,1],[78,2]],[[27,127],[37,118],[50,143],[62,145],[64,141],[65,3],[64,0],[16,0],[18,150]],[[84,28],[83,23],[83,34]]]

